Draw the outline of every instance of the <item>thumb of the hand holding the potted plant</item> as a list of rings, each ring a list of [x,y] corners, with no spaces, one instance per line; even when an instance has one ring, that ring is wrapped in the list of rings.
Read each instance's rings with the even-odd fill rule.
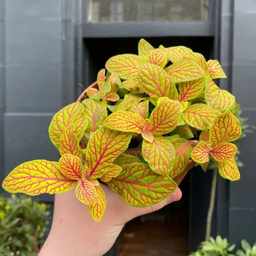
[[[151,205],[151,206],[144,207],[144,208],[132,207],[132,206],[127,205],[127,210],[125,211],[127,214],[127,218],[129,218],[127,221],[129,221],[135,217],[157,211],[172,202],[179,201],[181,199],[181,196],[182,196],[182,193],[181,193],[180,188],[178,187],[171,195],[169,195],[168,197],[166,197],[161,202],[159,202],[155,205]]]

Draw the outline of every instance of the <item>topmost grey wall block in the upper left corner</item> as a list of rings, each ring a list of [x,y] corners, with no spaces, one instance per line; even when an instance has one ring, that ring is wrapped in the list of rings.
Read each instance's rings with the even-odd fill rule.
[[[6,19],[60,19],[61,0],[7,0]]]

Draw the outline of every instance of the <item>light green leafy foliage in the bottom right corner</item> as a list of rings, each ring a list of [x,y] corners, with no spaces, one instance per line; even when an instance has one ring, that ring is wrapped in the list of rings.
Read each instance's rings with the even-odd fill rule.
[[[216,240],[213,237],[209,241],[203,241],[198,246],[198,251],[189,256],[256,256],[256,242],[251,246],[246,240],[241,241],[242,249],[237,249],[235,255],[232,252],[235,244],[230,245],[227,238],[222,239],[217,235]]]

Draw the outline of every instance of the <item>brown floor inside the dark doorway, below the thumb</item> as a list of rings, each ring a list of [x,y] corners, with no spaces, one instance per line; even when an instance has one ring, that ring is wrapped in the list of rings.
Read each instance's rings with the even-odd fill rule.
[[[186,221],[163,216],[129,222],[119,240],[119,256],[187,256]]]

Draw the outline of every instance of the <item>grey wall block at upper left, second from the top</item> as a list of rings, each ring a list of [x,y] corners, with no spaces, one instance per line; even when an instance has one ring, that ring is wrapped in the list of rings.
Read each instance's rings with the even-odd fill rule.
[[[7,63],[61,63],[59,20],[6,21]]]

